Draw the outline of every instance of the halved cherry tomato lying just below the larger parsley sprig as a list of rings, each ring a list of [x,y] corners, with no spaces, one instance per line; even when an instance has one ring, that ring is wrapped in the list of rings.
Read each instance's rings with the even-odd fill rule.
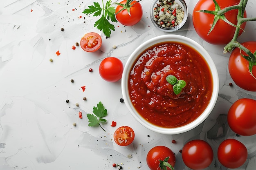
[[[94,52],[101,47],[101,36],[97,33],[86,33],[80,41],[80,45],[84,51]]]

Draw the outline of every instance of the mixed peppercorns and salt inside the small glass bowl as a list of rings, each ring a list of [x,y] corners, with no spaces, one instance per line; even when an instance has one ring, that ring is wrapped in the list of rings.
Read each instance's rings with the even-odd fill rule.
[[[171,28],[180,24],[184,9],[175,0],[159,0],[153,11],[154,20],[159,26]]]

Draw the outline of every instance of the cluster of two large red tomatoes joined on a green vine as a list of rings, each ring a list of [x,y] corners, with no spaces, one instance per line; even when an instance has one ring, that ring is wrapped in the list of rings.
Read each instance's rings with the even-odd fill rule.
[[[236,42],[236,39],[245,29],[246,22],[238,23],[239,18],[247,17],[245,7],[243,7],[243,10],[240,9],[241,11],[236,8],[226,11],[223,15],[217,15],[218,11],[224,10],[226,7],[240,5],[242,8],[242,6],[240,0],[216,0],[216,3],[217,5],[213,0],[198,1],[193,10],[195,31],[203,40],[210,44],[227,44],[224,47],[224,51],[231,52],[229,58],[231,78],[240,88],[247,91],[256,91],[256,56],[254,54],[254,60],[249,59],[248,55],[241,48],[241,45],[245,46],[246,49],[254,53],[256,51],[256,42],[249,41],[242,44],[238,42],[236,45],[231,44],[231,42]],[[236,26],[240,26],[239,33],[236,33]],[[249,66],[249,61],[251,60],[253,64]]]

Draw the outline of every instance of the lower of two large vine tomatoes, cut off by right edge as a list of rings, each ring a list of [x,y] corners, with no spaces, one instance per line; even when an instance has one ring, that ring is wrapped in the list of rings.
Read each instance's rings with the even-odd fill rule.
[[[256,41],[242,43],[252,53],[256,51]],[[248,56],[244,51],[243,55]],[[256,91],[256,79],[249,72],[249,62],[240,54],[239,48],[235,48],[229,57],[229,74],[236,85],[247,91]],[[252,73],[256,77],[256,66],[253,66]]]

